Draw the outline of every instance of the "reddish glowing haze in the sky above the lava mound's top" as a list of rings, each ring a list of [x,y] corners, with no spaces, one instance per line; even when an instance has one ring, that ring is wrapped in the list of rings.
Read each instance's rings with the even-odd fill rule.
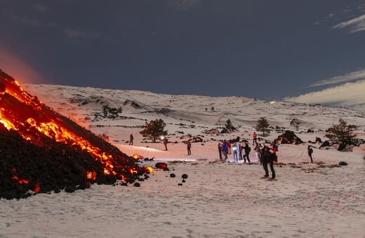
[[[0,47],[0,69],[20,83],[40,83],[43,77],[13,52]]]

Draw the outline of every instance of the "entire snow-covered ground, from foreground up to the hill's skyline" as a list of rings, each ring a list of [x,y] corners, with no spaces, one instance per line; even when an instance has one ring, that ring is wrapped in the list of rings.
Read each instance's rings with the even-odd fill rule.
[[[339,118],[359,125],[358,137],[364,139],[364,111],[243,97],[59,85],[24,88],[86,129],[104,134],[121,151],[167,161],[171,171],[157,169],[140,188],[93,185],[71,194],[0,200],[0,237],[365,237],[365,146],[343,153],[311,144],[313,164],[305,147],[316,137],[324,140],[324,130]],[[105,105],[121,107],[120,117],[102,118]],[[279,146],[277,181],[261,179],[263,168],[257,163],[218,161],[218,140],[239,136],[251,141],[260,117],[306,141]],[[167,124],[168,151],[160,141],[146,143],[139,134],[155,118]],[[298,131],[289,125],[293,118],[300,120]],[[203,133],[221,130],[227,119],[238,132]],[[281,133],[273,131],[265,139]],[[133,146],[128,146],[130,134]],[[204,139],[192,144],[192,155],[183,144],[188,134]],[[349,165],[334,166],[340,161]],[[178,186],[182,174],[188,178]]]

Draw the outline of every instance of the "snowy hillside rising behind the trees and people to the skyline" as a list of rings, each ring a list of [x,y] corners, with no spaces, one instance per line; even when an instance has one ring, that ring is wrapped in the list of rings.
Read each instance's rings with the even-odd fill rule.
[[[365,129],[365,111],[329,106],[308,106],[290,102],[270,103],[245,97],[203,97],[196,95],[154,94],[135,90],[108,90],[93,87],[69,87],[60,85],[24,85],[25,90],[38,95],[39,99],[81,125],[141,126],[145,120],[163,118],[169,132],[178,129],[176,124],[188,127],[189,133],[223,127],[230,119],[240,131],[252,132],[260,117],[265,117],[273,127],[293,130],[290,121],[300,120],[300,131],[326,130],[338,123],[339,118],[350,125]],[[114,120],[95,119],[102,113],[102,106],[122,108]],[[134,118],[134,119],[133,119]],[[183,127],[183,126],[180,126]],[[194,128],[191,128],[194,127]],[[187,129],[187,128],[183,128]]]

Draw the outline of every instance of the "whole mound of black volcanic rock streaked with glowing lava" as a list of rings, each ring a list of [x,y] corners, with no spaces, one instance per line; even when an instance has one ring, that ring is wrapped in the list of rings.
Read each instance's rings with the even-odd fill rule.
[[[0,198],[133,183],[133,158],[56,113],[0,70]],[[72,188],[72,189],[71,189]]]

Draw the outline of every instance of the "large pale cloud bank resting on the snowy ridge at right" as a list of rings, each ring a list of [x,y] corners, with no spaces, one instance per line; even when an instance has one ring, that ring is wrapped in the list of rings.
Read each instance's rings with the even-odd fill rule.
[[[298,97],[286,97],[285,101],[305,104],[327,104],[330,106],[345,106],[356,109],[365,108],[365,80],[345,83],[325,90],[310,92]]]

